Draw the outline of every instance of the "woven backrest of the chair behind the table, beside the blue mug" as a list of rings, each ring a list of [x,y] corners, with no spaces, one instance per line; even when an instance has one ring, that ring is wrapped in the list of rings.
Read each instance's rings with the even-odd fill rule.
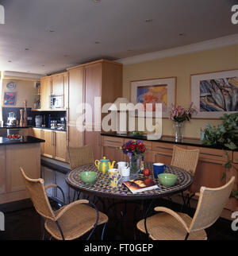
[[[171,165],[185,169],[194,176],[198,165],[199,149],[182,149],[174,145]]]

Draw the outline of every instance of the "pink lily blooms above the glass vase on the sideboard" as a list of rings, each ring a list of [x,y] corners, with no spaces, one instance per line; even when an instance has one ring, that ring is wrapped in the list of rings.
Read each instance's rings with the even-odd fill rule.
[[[186,110],[184,107],[181,106],[173,106],[170,113],[171,120],[175,122],[184,122],[184,121],[190,121],[191,115],[196,114],[198,111],[196,111],[192,106],[194,103],[190,104],[190,108]]]

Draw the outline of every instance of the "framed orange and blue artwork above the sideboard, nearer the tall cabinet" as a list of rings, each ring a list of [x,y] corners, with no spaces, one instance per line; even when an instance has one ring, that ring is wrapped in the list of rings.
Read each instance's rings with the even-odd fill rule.
[[[177,77],[131,81],[131,103],[162,103],[162,118],[169,118],[172,105],[176,104]],[[155,117],[155,104],[148,110],[149,117]],[[136,116],[144,116],[137,111]]]

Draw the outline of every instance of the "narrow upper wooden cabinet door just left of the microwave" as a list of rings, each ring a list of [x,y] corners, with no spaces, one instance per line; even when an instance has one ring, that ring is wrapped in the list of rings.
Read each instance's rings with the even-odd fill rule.
[[[43,77],[40,79],[40,110],[49,110],[50,96],[52,94],[52,78]]]

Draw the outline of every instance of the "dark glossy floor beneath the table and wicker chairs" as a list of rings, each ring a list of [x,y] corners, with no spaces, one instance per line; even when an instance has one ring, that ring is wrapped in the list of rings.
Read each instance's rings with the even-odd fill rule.
[[[175,211],[178,211],[180,208],[180,205],[171,203],[167,200],[159,200],[156,204],[167,206]],[[56,207],[56,204],[52,203],[52,205]],[[0,211],[5,213],[6,218],[6,231],[0,231],[0,239],[37,240],[41,238],[42,224],[40,223],[40,216],[36,213],[29,200],[22,200],[11,204],[2,204],[0,205]],[[132,205],[128,206],[127,211],[130,211],[131,213],[133,212]],[[110,212],[110,215],[116,214],[116,211],[113,212]],[[117,213],[118,212],[120,215],[121,209],[117,207]],[[193,215],[193,212],[190,212],[190,215]],[[115,222],[113,221],[108,223],[105,240],[132,240],[135,239],[135,234],[136,239],[142,238],[138,232],[134,232],[134,224],[132,222],[125,221],[123,229],[121,229],[120,222],[117,222],[118,225],[115,229],[114,223]],[[100,230],[98,230],[98,234],[96,234],[93,239],[99,239],[101,234],[101,231],[100,233],[99,231]],[[228,221],[227,219],[218,219],[212,227],[209,227],[206,230],[206,232],[209,240],[238,240],[238,231],[232,231],[231,221]]]

